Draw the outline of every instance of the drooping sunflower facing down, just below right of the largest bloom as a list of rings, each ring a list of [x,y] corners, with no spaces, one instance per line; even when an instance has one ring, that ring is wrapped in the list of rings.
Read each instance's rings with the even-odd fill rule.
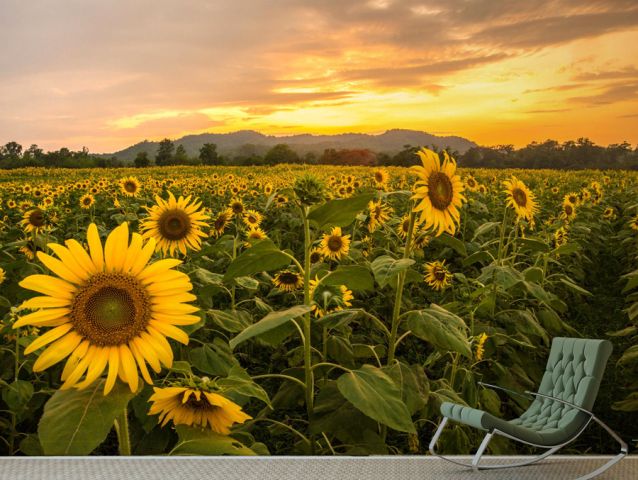
[[[219,393],[200,388],[153,388],[149,415],[159,414],[162,426],[169,421],[175,425],[210,428],[213,432],[228,435],[234,423],[251,419],[241,407]]]

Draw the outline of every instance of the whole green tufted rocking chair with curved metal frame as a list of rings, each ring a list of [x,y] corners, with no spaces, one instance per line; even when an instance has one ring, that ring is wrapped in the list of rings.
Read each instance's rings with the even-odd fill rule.
[[[611,351],[611,342],[607,340],[554,338],[538,393],[525,392],[526,396],[534,399],[525,413],[515,420],[502,420],[482,410],[444,402],[441,405],[443,420],[432,437],[430,452],[444,460],[472,467],[474,470],[519,467],[538,462],[558,451],[576,439],[593,420],[620,444],[618,455],[579,480],[594,478],[627,455],[627,444],[591,412]],[[521,395],[495,385],[482,385]],[[471,464],[436,453],[436,444],[448,420],[487,431]],[[547,451],[525,462],[479,465],[481,456],[494,435],[502,435],[528,445],[545,448]]]

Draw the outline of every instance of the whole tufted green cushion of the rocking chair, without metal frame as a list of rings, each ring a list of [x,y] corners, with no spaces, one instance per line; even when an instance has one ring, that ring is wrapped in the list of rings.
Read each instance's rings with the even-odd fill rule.
[[[611,351],[611,342],[607,340],[555,338],[538,393],[591,410]],[[449,402],[441,405],[441,413],[476,428],[488,431],[498,429],[543,446],[570,440],[589,418],[569,405],[541,397],[536,397],[523,415],[510,421]]]

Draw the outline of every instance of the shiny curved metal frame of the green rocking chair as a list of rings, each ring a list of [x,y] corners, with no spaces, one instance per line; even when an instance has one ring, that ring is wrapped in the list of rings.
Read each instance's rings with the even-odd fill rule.
[[[620,438],[620,436],[614,432],[609,425],[607,425],[605,422],[603,422],[602,420],[600,420],[598,417],[596,417],[596,415],[594,415],[592,412],[590,412],[589,410],[586,410],[578,405],[575,405],[571,402],[567,402],[565,400],[562,400],[560,398],[556,398],[556,397],[552,397],[550,395],[545,395],[542,393],[536,393],[536,392],[530,392],[530,391],[525,391],[525,394],[522,394],[520,392],[514,392],[512,390],[508,390],[507,388],[503,388],[503,387],[499,387],[498,385],[490,385],[488,383],[483,383],[483,382],[479,382],[479,384],[487,386],[487,387],[491,387],[491,388],[497,388],[499,390],[503,390],[509,393],[513,393],[516,395],[531,395],[534,397],[542,397],[542,398],[547,398],[549,400],[553,400],[555,402],[559,402],[559,403],[563,403],[565,405],[568,405],[572,408],[575,408],[577,410],[580,410],[581,412],[587,414],[589,416],[589,418],[587,419],[587,421],[585,422],[585,424],[583,425],[583,427],[578,431],[578,433],[576,435],[574,435],[571,439],[569,439],[568,441],[558,444],[558,445],[552,445],[552,446],[547,446],[547,445],[538,445],[535,443],[531,443],[531,442],[526,442],[525,440],[521,440],[520,438],[514,437],[512,435],[509,435],[505,432],[501,432],[498,429],[493,429],[491,431],[488,431],[487,434],[485,435],[485,437],[483,437],[483,441],[481,442],[481,445],[479,446],[478,450],[476,451],[476,453],[474,454],[474,457],[472,458],[472,463],[465,463],[465,462],[459,462],[458,460],[454,460],[451,459],[449,457],[445,457],[439,453],[436,452],[436,444],[439,441],[439,437],[441,436],[441,433],[443,432],[443,429],[445,428],[445,425],[448,422],[448,418],[447,417],[443,417],[443,420],[441,421],[441,423],[439,424],[436,432],[434,433],[434,436],[432,437],[432,440],[430,441],[430,453],[432,455],[435,455],[439,458],[442,458],[443,460],[446,460],[450,463],[454,463],[456,465],[461,465],[463,467],[470,467],[472,468],[474,471],[478,471],[478,470],[495,470],[495,469],[501,469],[501,468],[514,468],[514,467],[523,467],[526,465],[531,465],[532,463],[536,463],[544,458],[549,457],[551,454],[557,452],[558,450],[560,450],[562,447],[564,447],[565,445],[573,442],[574,440],[576,440],[576,438],[578,438],[580,436],[581,433],[583,433],[585,431],[585,429],[589,426],[589,424],[592,422],[592,420],[596,423],[598,423],[601,427],[603,427],[607,433],[609,433],[609,435],[612,436],[612,438],[614,440],[616,440],[619,444],[620,444],[620,453],[618,453],[617,455],[615,455],[614,457],[612,457],[607,463],[605,463],[604,465],[602,465],[601,467],[597,468],[596,470],[594,470],[593,472],[590,472],[582,477],[578,477],[576,480],[588,480],[590,478],[594,478],[598,475],[600,475],[601,473],[603,473],[604,471],[606,471],[607,469],[609,469],[611,466],[613,466],[614,464],[618,463],[620,460],[622,460],[628,452],[628,447],[627,444],[623,441],[622,438]],[[510,440],[516,440],[517,442],[521,442],[521,443],[525,443],[527,445],[531,445],[533,447],[539,447],[539,448],[545,448],[547,449],[546,452],[542,453],[541,455],[537,455],[536,457],[533,457],[531,460],[526,460],[524,462],[519,462],[519,463],[511,463],[511,464],[504,464],[504,465],[479,465],[479,462],[481,461],[481,457],[483,456],[483,453],[485,453],[485,449],[487,448],[488,444],[490,443],[490,440],[492,439],[492,437],[494,435],[501,435],[503,437],[509,438]]]

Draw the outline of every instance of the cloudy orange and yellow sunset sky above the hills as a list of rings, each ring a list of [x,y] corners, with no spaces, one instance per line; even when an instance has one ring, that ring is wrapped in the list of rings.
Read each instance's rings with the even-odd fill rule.
[[[392,128],[638,144],[638,1],[0,2],[0,144]]]

